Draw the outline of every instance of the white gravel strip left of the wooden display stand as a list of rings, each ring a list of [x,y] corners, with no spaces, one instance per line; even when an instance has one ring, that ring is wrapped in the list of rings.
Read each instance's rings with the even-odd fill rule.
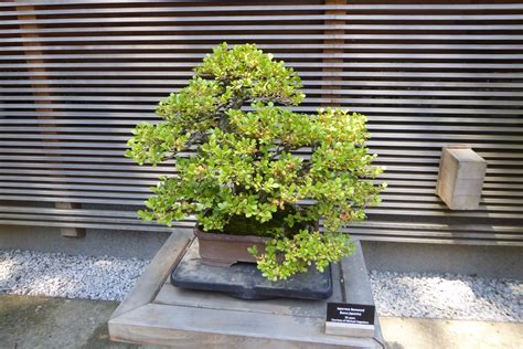
[[[149,262],[0,250],[0,294],[121,302]]]

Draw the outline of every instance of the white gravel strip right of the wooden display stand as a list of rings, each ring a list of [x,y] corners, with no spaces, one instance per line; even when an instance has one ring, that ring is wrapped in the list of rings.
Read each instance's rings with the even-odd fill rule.
[[[436,273],[370,273],[382,316],[523,321],[523,282]]]

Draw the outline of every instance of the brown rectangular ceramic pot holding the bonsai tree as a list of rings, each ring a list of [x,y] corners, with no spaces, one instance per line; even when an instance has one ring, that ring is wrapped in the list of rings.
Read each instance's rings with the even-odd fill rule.
[[[258,253],[264,253],[267,237],[253,235],[230,235],[206,233],[194,228],[198,237],[200,257],[206,265],[231,266],[236,262],[256,263],[247,248],[256,246]]]

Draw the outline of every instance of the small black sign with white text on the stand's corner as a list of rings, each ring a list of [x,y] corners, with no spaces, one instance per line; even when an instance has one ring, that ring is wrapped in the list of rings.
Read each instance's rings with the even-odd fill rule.
[[[327,321],[355,325],[374,325],[376,307],[351,303],[328,303]]]

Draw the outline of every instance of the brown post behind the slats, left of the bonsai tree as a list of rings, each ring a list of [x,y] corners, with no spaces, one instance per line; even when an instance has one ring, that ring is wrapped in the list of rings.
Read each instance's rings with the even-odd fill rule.
[[[20,0],[18,0],[18,1],[20,1]],[[20,7],[17,7],[17,10],[28,13],[28,14],[18,15],[18,19],[21,20],[21,21],[36,19],[36,17],[34,14],[32,14],[32,11],[34,10],[34,8],[31,7],[31,6],[20,6]],[[32,41],[32,42],[23,42],[24,47],[35,49],[35,50],[25,50],[24,54],[25,55],[33,55],[33,56],[41,56],[42,51],[40,50],[40,43],[38,42],[39,34],[36,32],[38,24],[20,24],[20,29],[32,29],[33,30],[33,32],[31,32],[31,33],[21,33],[22,38],[32,38],[32,39],[34,39],[34,41]],[[32,60],[26,59],[25,62],[43,64],[44,60],[42,57],[32,59]],[[42,76],[41,80],[38,78],[36,76],[33,76],[33,75],[30,76],[30,80],[33,82],[31,84],[32,88],[34,88],[33,95],[34,96],[50,96],[50,94],[47,92],[45,92],[45,88],[49,87],[49,85],[45,84],[45,75],[44,75],[45,67],[44,66],[42,66],[42,67],[28,67],[28,72],[30,72],[30,73],[31,72],[42,73],[43,72],[43,74],[39,75],[39,76]],[[39,87],[41,87],[42,89],[38,91]],[[35,104],[34,109],[36,112],[42,112],[42,113],[53,112],[53,109],[49,108],[49,107],[39,107],[39,104],[52,104],[52,101],[46,102],[46,101],[35,99],[34,104]],[[53,119],[53,116],[44,114],[44,115],[39,115],[38,118],[41,119],[41,120],[44,120],[44,119],[49,120],[49,119]],[[41,126],[41,127],[54,127],[55,125],[54,124],[39,124],[39,126]],[[41,134],[56,135],[55,131],[41,131]],[[57,139],[53,139],[52,141],[58,142]],[[60,161],[60,155],[56,156],[56,160],[53,161],[53,162],[54,163],[60,163],[61,162]],[[57,176],[58,177],[64,177],[62,174],[57,174]],[[72,203],[72,202],[55,202],[55,208],[63,209],[63,210],[79,209],[81,204],[79,203]],[[68,237],[84,237],[85,236],[85,230],[84,229],[61,228],[60,231],[61,231],[62,236],[68,236]]]

